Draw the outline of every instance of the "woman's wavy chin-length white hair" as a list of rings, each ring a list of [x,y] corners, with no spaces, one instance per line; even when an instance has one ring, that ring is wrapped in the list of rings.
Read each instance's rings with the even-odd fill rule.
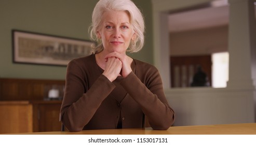
[[[91,40],[97,42],[97,46],[93,47],[92,53],[99,53],[103,50],[103,45],[101,39],[97,37],[97,32],[101,27],[103,13],[110,10],[128,12],[136,38],[130,41],[127,51],[131,53],[140,51],[144,45],[145,31],[144,18],[140,9],[130,0],[100,0],[92,12],[92,23],[89,27]]]

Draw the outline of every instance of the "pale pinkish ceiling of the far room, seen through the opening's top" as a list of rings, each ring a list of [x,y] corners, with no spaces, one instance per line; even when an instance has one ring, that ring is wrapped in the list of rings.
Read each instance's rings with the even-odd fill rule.
[[[228,24],[227,0],[216,0],[212,3],[189,10],[179,10],[168,17],[169,32],[196,30]]]

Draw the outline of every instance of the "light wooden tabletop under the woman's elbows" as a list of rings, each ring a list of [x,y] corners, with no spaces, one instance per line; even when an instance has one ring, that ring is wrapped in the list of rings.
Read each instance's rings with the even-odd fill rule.
[[[167,130],[152,128],[83,130],[82,132],[38,132],[23,135],[256,135],[256,123],[172,126]]]

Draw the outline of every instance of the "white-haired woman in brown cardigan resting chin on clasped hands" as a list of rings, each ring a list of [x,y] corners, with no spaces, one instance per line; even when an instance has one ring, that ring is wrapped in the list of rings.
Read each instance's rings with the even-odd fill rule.
[[[100,0],[92,13],[89,56],[72,60],[66,71],[60,120],[71,132],[145,127],[168,129],[174,111],[158,70],[132,59],[144,44],[144,19],[130,0]]]

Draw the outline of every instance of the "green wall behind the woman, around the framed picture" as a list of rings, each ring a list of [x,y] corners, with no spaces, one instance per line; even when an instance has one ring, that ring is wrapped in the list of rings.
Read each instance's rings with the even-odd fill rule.
[[[0,77],[65,79],[66,67],[12,63],[11,30],[89,39],[88,26],[95,0],[0,0]],[[153,64],[152,4],[133,1],[146,22],[144,48],[131,54],[135,59]]]

